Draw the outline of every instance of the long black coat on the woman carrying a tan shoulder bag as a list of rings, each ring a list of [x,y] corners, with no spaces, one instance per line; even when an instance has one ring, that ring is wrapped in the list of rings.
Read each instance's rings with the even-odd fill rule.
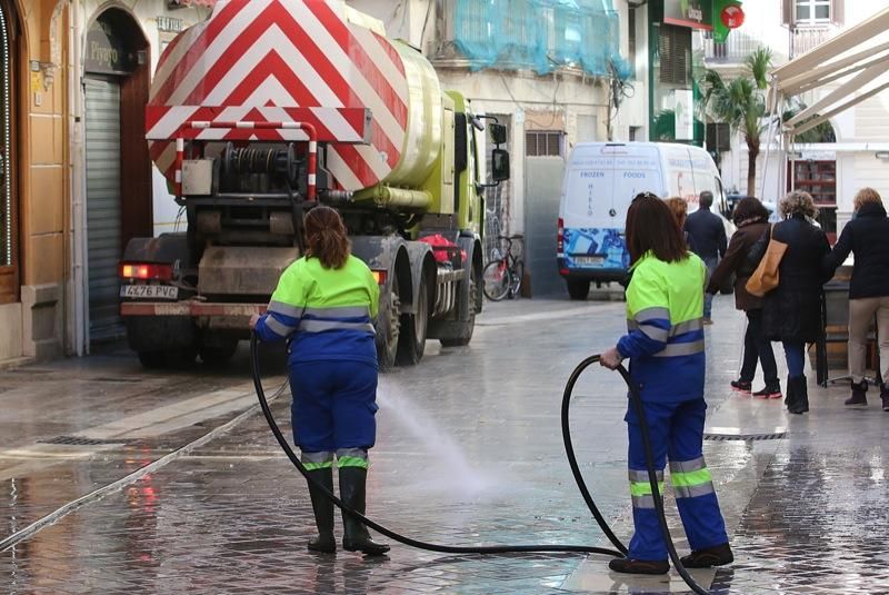
[[[772,236],[787,244],[787,251],[778,287],[763,299],[763,335],[773,341],[815,343],[823,334],[821,288],[832,276],[823,265],[830,252],[827,236],[802,215],[776,224]]]

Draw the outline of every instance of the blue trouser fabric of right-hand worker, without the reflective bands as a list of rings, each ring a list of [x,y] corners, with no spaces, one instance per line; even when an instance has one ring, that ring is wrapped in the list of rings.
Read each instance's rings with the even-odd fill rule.
[[[646,422],[651,439],[655,469],[661,477],[667,457],[670,468],[688,468],[703,465],[702,440],[703,419],[707,404],[702,398],[679,403],[646,401]],[[629,429],[629,469],[631,480],[645,472],[646,454],[642,434],[635,408],[629,407],[627,416]],[[703,466],[703,469],[707,467]],[[680,492],[682,493],[680,496]],[[676,489],[676,505],[686,529],[691,549],[702,549],[728,543],[726,524],[719,509],[719,502],[712,483]],[[629,557],[633,559],[666,561],[667,546],[651,498],[633,498],[633,525],[636,532],[630,539]]]

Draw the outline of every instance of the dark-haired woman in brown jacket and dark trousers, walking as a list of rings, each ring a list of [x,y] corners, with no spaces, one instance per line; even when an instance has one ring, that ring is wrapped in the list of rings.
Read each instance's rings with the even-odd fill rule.
[[[737,380],[731,381],[731,388],[750,395],[753,388],[753,376],[757,371],[757,360],[759,360],[766,386],[752,395],[759,398],[781,398],[781,383],[778,379],[775,353],[771,349],[771,341],[762,334],[762,298],[752,295],[745,287],[747,279],[753,272],[753,268],[748,264],[748,255],[753,245],[769,229],[767,222],[769,210],[762,206],[759,199],[745,197],[735,207],[732,219],[738,231],[731,236],[726,256],[717,266],[707,285],[707,292],[716,294],[735,274],[735,307],[747,315],[741,374]]]

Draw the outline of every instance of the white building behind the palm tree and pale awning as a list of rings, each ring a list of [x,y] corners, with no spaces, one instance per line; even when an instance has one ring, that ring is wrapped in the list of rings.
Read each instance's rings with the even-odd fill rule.
[[[745,23],[726,43],[705,39],[707,66],[731,77],[741,71],[748,54],[758,47],[768,47],[778,67],[886,8],[889,8],[886,0],[745,0]],[[881,41],[889,38],[873,42]],[[841,82],[807,92],[802,102],[815,103]],[[799,109],[799,106],[788,107]],[[776,156],[775,141],[767,150],[769,135],[763,133],[757,163],[757,194],[775,201],[791,188],[811,192],[821,211],[819,222],[833,241],[851,217],[852,198],[859,188],[872,186],[889,196],[887,118],[889,95],[880,92],[838,113],[817,135],[797,139],[785,162],[779,162]],[[722,153],[721,159],[727,188],[743,191],[747,162],[743,139],[732,135],[731,150]]]

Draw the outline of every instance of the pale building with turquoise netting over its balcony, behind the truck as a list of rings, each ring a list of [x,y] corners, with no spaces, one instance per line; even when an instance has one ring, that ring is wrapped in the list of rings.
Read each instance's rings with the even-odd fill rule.
[[[486,198],[486,244],[523,234],[535,295],[563,291],[558,201],[571,148],[648,139],[648,10],[623,0],[348,0],[432,62],[442,89],[509,128],[511,178]]]

